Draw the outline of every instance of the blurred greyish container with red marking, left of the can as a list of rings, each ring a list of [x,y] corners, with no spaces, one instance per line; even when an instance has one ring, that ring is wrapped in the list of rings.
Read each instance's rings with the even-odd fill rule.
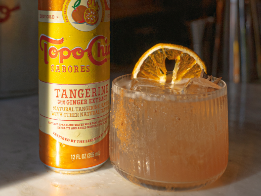
[[[0,0],[0,98],[38,92],[37,7],[37,0]]]

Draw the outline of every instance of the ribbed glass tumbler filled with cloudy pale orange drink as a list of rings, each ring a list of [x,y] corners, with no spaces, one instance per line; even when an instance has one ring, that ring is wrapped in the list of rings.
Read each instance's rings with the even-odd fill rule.
[[[130,90],[131,74],[112,84],[110,159],[134,184],[166,191],[203,187],[228,161],[227,89],[154,95]]]

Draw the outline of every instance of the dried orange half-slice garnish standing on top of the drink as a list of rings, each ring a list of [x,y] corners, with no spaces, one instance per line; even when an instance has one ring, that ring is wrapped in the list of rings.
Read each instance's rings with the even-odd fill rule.
[[[172,84],[185,83],[190,78],[200,77],[205,63],[191,49],[173,44],[157,44],[147,50],[136,63],[132,78],[148,78],[166,82],[166,57],[175,60]]]

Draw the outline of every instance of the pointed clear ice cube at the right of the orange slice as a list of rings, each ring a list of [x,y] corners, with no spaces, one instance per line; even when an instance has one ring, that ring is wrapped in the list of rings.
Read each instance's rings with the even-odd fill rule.
[[[220,86],[205,78],[191,78],[184,86],[184,94],[208,93],[221,89]]]

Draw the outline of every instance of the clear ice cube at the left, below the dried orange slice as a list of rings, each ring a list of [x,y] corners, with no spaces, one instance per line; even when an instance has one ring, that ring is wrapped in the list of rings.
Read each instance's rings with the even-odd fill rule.
[[[131,90],[150,94],[176,94],[170,84],[147,78],[132,79]]]

